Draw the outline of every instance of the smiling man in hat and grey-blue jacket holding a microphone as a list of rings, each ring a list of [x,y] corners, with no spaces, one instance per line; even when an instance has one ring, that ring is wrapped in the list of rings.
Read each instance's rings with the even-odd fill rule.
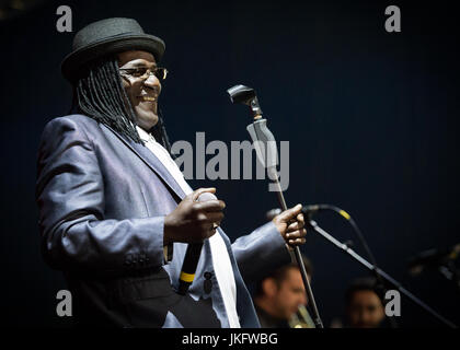
[[[301,206],[230,243],[225,202],[198,200],[216,189],[193,190],[171,158],[158,108],[164,47],[130,19],[77,33],[61,66],[77,114],[49,121],[38,150],[44,258],[64,271],[79,325],[258,327],[244,282],[304,243]],[[203,249],[181,295],[188,243]]]

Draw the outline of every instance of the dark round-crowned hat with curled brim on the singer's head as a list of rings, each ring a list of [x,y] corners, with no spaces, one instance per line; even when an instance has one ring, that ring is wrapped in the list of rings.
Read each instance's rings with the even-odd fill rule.
[[[164,47],[162,39],[145,34],[136,20],[106,19],[91,23],[76,34],[72,52],[62,60],[60,69],[67,80],[73,81],[83,65],[107,54],[146,50],[159,62]]]

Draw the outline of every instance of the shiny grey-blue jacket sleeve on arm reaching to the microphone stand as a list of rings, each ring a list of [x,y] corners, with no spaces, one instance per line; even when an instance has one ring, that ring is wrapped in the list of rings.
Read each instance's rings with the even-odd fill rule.
[[[286,242],[273,222],[241,236],[231,245],[238,268],[246,283],[291,261]]]

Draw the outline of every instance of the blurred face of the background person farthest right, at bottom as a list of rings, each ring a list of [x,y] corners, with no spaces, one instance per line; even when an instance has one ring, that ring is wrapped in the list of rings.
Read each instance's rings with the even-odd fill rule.
[[[348,318],[354,328],[376,328],[384,318],[383,305],[372,291],[357,291],[348,306]]]

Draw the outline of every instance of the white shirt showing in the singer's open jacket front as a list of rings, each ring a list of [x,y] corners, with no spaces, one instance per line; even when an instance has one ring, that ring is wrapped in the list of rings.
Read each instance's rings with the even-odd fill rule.
[[[192,187],[185,182],[184,175],[182,174],[177,164],[171,158],[170,153],[154,140],[151,133],[148,133],[146,130],[138,126],[136,128],[140,139],[146,142],[147,148],[170,172],[185,195],[193,192]],[[214,271],[216,273],[217,282],[220,287],[220,292],[222,294],[223,305],[227,311],[230,328],[241,328],[237,313],[237,285],[234,282],[233,268],[227,252],[226,243],[223,242],[223,238],[219,234],[218,230],[216,231],[216,234],[209,238],[209,246],[212,256]]]

